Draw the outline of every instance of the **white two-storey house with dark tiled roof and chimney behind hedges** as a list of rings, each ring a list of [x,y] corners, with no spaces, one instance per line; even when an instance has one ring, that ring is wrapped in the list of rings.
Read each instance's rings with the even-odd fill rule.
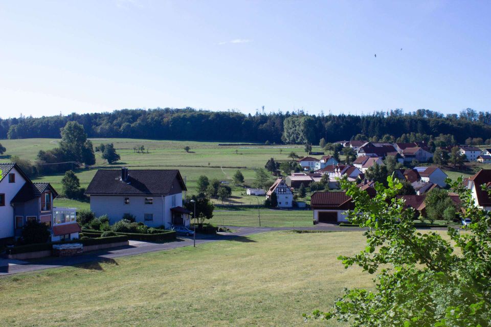
[[[183,205],[187,191],[178,170],[98,170],[85,194],[91,211],[107,215],[114,224],[124,214],[150,227],[189,226],[191,214]]]

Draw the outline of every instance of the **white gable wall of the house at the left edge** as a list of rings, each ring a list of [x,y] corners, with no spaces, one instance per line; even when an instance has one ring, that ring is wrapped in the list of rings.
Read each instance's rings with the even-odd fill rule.
[[[10,201],[26,183],[15,168],[12,168],[9,174],[15,174],[15,183],[9,183],[9,176],[5,176],[0,182],[0,193],[5,193],[5,206],[0,206],[0,239],[14,236],[14,208]]]

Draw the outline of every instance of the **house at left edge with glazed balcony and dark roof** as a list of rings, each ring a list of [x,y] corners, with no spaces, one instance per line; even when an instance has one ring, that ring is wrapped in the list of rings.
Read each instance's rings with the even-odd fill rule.
[[[48,225],[51,241],[78,238],[76,209],[54,207],[58,196],[50,183],[33,183],[16,164],[0,164],[0,240],[21,236],[31,221]]]

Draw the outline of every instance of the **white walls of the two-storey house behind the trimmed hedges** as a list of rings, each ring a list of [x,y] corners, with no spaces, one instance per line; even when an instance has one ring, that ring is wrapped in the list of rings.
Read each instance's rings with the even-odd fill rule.
[[[150,227],[165,225],[170,227],[172,215],[172,195],[164,197],[147,196],[153,198],[153,204],[145,204],[145,196],[129,196],[129,204],[124,204],[125,196],[91,196],[91,211],[96,217],[107,215],[110,224],[121,220],[123,214],[129,213],[136,217],[137,222],[142,222]],[[183,194],[175,194],[175,206],[183,205]],[[153,221],[145,221],[144,214],[153,214]]]

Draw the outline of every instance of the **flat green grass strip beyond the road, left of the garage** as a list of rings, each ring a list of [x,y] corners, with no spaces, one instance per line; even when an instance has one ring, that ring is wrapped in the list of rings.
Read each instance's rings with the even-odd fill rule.
[[[314,214],[311,210],[259,210],[262,227],[311,226]],[[217,207],[210,220],[215,225],[259,226],[258,209],[243,207]]]

